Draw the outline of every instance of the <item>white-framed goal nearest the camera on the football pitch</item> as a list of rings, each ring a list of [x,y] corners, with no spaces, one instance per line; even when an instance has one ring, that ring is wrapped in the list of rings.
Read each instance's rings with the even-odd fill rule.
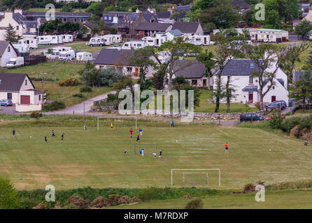
[[[171,169],[171,185],[218,186],[220,169]]]

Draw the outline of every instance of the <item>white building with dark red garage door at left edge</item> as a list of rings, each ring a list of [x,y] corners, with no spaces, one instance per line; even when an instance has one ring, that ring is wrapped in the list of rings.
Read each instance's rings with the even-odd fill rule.
[[[27,74],[0,73],[0,100],[11,100],[16,112],[40,111],[43,97]]]

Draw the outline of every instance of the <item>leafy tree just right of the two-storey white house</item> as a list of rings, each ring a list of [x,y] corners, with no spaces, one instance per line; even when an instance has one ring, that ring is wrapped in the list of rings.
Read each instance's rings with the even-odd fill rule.
[[[309,45],[300,44],[285,49],[285,54],[283,54],[283,58],[280,59],[279,66],[285,71],[288,77],[288,83],[292,82],[292,72],[296,62],[300,62],[300,55],[308,48]]]

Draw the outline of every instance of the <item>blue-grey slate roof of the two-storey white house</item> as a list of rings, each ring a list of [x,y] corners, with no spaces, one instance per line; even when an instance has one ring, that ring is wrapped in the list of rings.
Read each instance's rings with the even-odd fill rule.
[[[250,76],[259,71],[255,62],[251,59],[233,59],[227,63],[221,75]]]

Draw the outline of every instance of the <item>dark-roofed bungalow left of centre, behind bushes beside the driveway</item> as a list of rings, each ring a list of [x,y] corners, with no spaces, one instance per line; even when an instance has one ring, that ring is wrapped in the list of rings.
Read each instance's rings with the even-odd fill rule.
[[[99,56],[94,61],[95,68],[115,68],[118,72],[125,75],[131,75],[132,78],[139,78],[139,66],[134,66],[131,63],[131,57],[134,56],[134,49],[101,49]],[[161,64],[158,58],[151,58],[156,63]],[[153,77],[155,70],[148,69],[147,77]]]

